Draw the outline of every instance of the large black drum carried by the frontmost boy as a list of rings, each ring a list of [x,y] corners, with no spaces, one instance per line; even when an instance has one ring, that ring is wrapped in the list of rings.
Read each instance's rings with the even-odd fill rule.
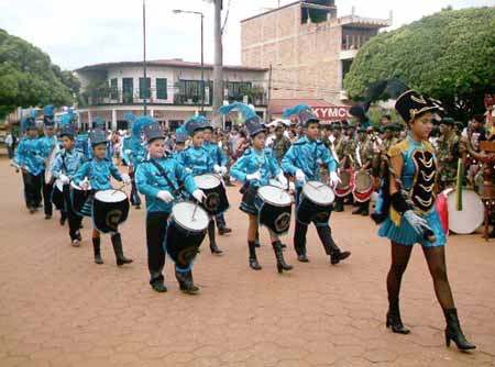
[[[180,269],[193,265],[208,230],[208,213],[195,203],[183,201],[172,208],[165,235],[165,251]]]

